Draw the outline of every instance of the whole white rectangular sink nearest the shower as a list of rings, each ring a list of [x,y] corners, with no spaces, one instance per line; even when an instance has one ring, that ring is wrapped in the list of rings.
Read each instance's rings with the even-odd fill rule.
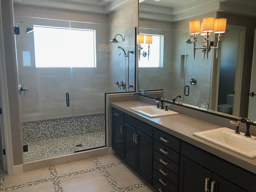
[[[150,118],[179,114],[171,110],[165,111],[162,109],[157,109],[156,106],[131,107],[130,109]]]

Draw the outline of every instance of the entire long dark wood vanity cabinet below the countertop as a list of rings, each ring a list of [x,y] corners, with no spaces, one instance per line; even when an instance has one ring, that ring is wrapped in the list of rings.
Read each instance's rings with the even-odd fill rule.
[[[117,109],[112,148],[159,192],[256,192],[256,174]]]

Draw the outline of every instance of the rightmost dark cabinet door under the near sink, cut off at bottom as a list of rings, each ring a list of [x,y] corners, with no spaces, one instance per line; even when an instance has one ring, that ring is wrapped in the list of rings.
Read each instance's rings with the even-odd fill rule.
[[[229,181],[213,174],[211,182],[211,192],[246,192],[238,186],[230,183]]]

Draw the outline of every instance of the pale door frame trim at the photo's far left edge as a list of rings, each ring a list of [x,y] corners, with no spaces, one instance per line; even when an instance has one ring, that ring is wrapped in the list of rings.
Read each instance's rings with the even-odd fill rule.
[[[0,20],[2,21],[1,0],[0,0]],[[13,165],[11,122],[10,122],[10,111],[9,111],[9,98],[8,98],[8,91],[7,91],[8,86],[7,86],[6,63],[5,63],[5,57],[4,57],[2,23],[0,23],[0,86],[2,90],[4,90],[4,91],[1,91],[1,99],[2,99],[2,111],[3,111],[3,114],[2,114],[3,130],[4,130],[3,134],[4,134],[4,143],[5,143],[5,149],[6,149],[7,172],[9,175],[12,175],[14,165]]]

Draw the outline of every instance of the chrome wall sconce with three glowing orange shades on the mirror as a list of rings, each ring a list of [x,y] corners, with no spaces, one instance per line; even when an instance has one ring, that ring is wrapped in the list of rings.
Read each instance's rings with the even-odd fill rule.
[[[202,24],[200,20],[194,20],[189,22],[190,34],[193,35],[194,59],[195,59],[196,49],[201,49],[201,51],[203,52],[203,59],[205,58],[205,54],[206,54],[206,58],[208,59],[209,52],[211,51],[211,49],[217,49],[216,58],[219,57],[221,37],[222,37],[222,33],[226,32],[226,25],[227,25],[227,19],[225,18],[215,19],[214,17],[203,18]],[[211,35],[210,32],[219,34],[217,47],[214,47],[213,42],[210,42],[209,40],[209,36]],[[201,34],[202,36],[204,36],[204,42],[202,47],[200,48],[196,48],[196,34]]]

